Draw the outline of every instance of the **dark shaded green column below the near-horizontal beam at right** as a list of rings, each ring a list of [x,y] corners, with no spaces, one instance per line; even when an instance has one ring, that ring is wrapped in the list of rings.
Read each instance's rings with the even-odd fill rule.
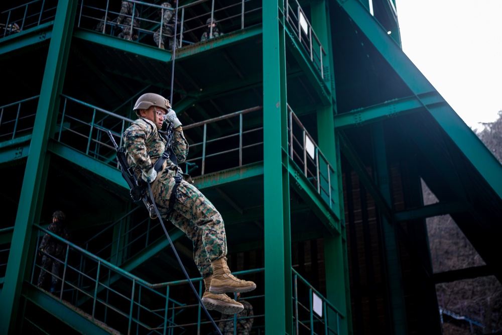
[[[372,126],[373,157],[375,180],[382,196],[391,206],[391,186],[387,152],[385,149],[384,127],[381,122]],[[391,206],[392,207],[392,206]],[[380,214],[380,226],[384,244],[384,257],[387,274],[387,292],[390,299],[392,327],[394,335],[407,334],[406,308],[401,275],[401,258],[394,222],[389,222]]]

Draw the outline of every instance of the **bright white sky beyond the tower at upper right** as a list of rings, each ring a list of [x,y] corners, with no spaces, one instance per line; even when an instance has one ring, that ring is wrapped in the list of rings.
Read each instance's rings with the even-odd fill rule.
[[[403,51],[471,128],[502,109],[502,0],[396,0]]]

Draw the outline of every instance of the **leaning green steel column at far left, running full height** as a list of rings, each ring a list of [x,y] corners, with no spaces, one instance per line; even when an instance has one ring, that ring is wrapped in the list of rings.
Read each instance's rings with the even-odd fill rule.
[[[29,278],[35,235],[32,224],[40,216],[49,157],[47,142],[56,122],[77,1],[60,1],[52,31],[42,88],[21,188],[19,207],[0,296],[0,333],[13,334],[24,279]],[[38,221],[38,219],[37,219]]]

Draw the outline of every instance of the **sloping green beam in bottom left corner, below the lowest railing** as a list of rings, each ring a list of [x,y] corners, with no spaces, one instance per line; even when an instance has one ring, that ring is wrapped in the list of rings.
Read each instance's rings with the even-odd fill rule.
[[[92,322],[90,315],[84,312],[79,313],[78,309],[68,307],[56,300],[54,296],[35,288],[29,283],[24,284],[23,296],[79,333],[93,335],[110,334],[109,330]]]

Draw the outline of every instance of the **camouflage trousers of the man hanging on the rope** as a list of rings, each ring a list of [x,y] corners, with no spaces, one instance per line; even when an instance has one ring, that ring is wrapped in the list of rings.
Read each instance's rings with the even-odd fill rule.
[[[163,173],[152,184],[152,194],[161,217],[169,219],[193,243],[193,258],[202,278],[212,274],[211,262],[226,256],[223,218],[195,186],[182,180],[176,202],[169,212],[169,199],[175,180]]]

